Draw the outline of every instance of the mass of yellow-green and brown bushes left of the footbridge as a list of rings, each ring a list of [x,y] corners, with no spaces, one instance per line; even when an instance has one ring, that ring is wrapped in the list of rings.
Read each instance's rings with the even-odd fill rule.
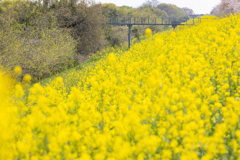
[[[77,2],[0,2],[0,66],[15,66],[33,79],[74,65],[79,54],[103,46],[101,5]],[[93,23],[94,22],[94,23]]]

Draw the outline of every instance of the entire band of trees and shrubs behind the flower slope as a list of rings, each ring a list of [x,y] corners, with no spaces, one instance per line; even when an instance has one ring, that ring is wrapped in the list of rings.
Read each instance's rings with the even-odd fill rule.
[[[99,4],[93,0],[0,1],[0,66],[35,79],[74,66],[79,57],[127,42],[124,26],[102,25],[103,17],[186,17],[176,5],[146,1],[138,8]],[[132,28],[139,39],[146,27]]]

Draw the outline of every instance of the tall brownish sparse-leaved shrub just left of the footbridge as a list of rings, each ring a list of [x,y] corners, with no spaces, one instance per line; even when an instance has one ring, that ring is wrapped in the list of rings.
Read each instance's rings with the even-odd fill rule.
[[[79,54],[96,53],[104,46],[101,5],[81,0],[75,7],[56,10],[57,24],[68,28],[77,41]]]

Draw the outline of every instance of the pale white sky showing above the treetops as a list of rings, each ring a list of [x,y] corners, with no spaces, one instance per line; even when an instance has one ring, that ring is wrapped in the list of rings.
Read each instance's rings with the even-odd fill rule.
[[[95,0],[101,3],[113,3],[117,6],[139,7],[146,0]],[[209,14],[221,0],[159,0],[160,3],[175,4],[178,7],[191,8],[195,14]]]

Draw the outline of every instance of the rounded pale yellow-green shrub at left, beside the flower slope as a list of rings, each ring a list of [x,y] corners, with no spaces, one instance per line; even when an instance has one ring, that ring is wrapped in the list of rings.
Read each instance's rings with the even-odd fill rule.
[[[7,28],[6,26],[4,28]],[[48,77],[73,64],[76,42],[66,30],[0,31],[0,65],[22,68],[33,80]]]

